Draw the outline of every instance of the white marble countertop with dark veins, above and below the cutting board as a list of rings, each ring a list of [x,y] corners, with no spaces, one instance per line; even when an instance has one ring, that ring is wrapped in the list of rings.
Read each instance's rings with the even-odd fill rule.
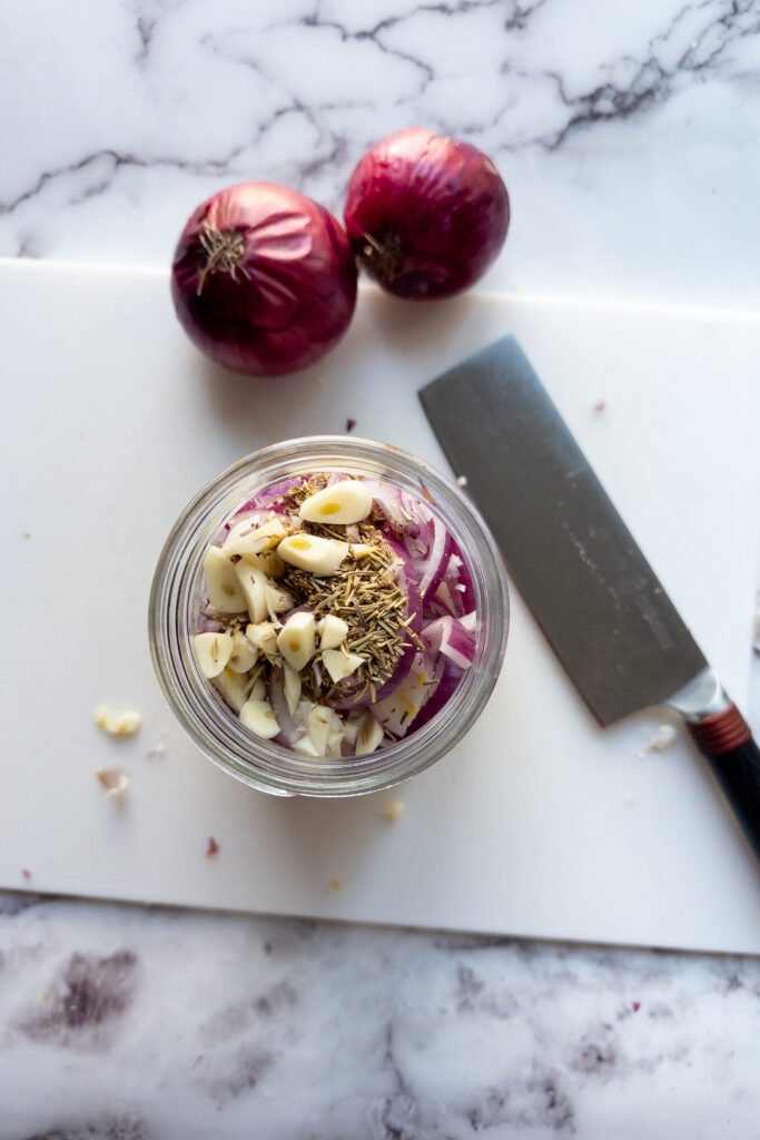
[[[166,264],[250,178],[340,212],[422,123],[509,187],[487,287],[752,308],[759,33],[760,0],[6,2],[0,255]],[[760,1137],[757,959],[7,895],[0,1041],[0,1140]]]

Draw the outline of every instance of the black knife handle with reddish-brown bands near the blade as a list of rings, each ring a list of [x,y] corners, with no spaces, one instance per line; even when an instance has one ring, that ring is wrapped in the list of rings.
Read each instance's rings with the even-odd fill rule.
[[[760,858],[760,748],[752,730],[735,705],[686,723]]]

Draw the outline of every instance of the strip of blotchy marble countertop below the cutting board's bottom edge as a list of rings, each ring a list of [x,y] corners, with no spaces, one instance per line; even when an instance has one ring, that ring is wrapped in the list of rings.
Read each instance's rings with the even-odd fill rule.
[[[16,897],[3,1140],[757,1134],[758,960]]]

